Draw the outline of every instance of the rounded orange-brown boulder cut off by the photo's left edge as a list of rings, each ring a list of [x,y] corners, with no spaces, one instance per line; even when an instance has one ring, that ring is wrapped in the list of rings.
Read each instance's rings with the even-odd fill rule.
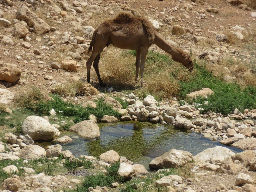
[[[0,62],[0,80],[16,82],[21,77],[21,70],[15,64]]]

